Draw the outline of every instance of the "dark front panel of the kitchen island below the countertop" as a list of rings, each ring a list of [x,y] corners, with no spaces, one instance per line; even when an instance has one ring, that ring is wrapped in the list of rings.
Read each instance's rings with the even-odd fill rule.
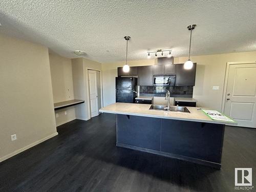
[[[225,124],[116,115],[116,145],[221,168]]]

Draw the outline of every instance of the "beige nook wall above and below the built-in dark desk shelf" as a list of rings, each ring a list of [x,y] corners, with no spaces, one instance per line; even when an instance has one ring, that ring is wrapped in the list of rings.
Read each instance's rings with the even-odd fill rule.
[[[70,58],[62,57],[55,53],[49,54],[53,102],[61,102],[74,99],[72,62]],[[56,126],[76,119],[75,107],[55,111]],[[67,112],[67,115],[65,115]],[[58,117],[56,117],[58,114]]]

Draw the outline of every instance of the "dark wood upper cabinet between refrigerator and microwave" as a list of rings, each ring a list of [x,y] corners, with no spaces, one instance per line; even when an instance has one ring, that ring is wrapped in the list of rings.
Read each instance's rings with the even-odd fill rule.
[[[138,85],[153,86],[153,66],[138,67]]]

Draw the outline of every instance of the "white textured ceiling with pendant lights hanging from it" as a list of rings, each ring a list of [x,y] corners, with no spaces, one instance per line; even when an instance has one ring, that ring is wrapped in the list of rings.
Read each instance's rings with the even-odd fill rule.
[[[226,1],[11,1],[0,2],[1,33],[38,42],[74,58],[105,62],[146,59],[146,50],[169,48],[173,56],[256,50],[256,3]],[[107,50],[109,52],[107,52]]]

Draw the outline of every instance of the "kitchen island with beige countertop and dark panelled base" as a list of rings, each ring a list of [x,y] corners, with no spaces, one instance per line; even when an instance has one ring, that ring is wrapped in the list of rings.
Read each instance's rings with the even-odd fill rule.
[[[100,109],[116,114],[116,145],[221,168],[223,121],[200,108],[190,113],[149,110],[151,104],[114,103]]]

